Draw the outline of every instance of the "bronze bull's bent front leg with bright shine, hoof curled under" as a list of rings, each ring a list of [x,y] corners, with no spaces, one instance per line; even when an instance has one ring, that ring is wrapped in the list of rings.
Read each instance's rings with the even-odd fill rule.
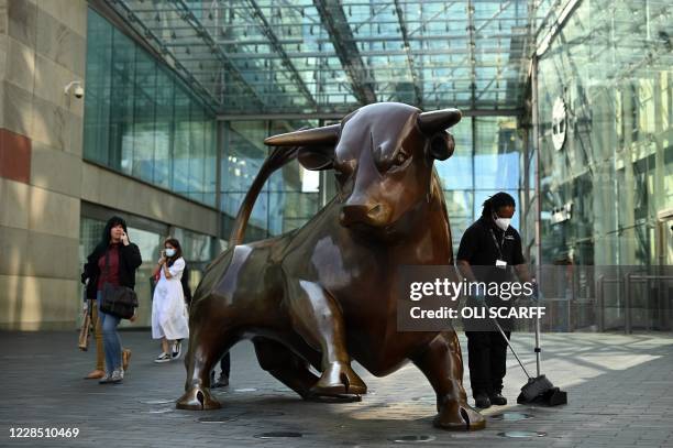
[[[351,368],[343,315],[334,298],[316,283],[294,278],[286,280],[286,298],[293,328],[322,353],[322,375],[311,387],[311,393],[366,393],[366,384]]]

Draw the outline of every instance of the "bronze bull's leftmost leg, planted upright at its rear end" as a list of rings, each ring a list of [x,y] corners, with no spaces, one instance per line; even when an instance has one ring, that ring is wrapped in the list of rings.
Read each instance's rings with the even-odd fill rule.
[[[185,394],[177,401],[176,407],[191,411],[218,409],[220,403],[210,394],[210,371],[239,339],[227,326],[227,319],[210,317],[191,324],[189,351],[185,357]]]

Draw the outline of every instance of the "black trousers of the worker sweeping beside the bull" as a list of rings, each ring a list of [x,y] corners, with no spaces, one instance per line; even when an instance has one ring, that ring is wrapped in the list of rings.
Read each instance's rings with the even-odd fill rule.
[[[472,395],[493,395],[503,391],[507,361],[507,342],[499,331],[465,331]],[[505,331],[507,339],[511,335]]]

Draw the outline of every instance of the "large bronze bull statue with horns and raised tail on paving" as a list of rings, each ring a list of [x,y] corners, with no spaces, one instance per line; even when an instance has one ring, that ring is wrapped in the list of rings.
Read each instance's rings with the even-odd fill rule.
[[[305,398],[364,394],[351,357],[374,375],[412,361],[437,393],[434,425],[479,429],[466,401],[455,331],[397,331],[401,265],[453,264],[451,230],[434,160],[451,156],[455,109],[421,113],[384,102],[340,124],[275,135],[234,222],[230,248],[207,269],[191,303],[181,409],[220,407],[210,372],[239,340],[261,367]],[[333,170],[338,195],[302,228],[242,244],[268,176],[298,159]],[[312,364],[320,378],[309,370]]]

